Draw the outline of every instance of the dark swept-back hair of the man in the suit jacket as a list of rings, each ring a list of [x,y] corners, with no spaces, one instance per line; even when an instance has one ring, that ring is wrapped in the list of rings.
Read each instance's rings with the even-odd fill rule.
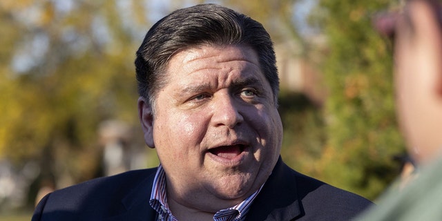
[[[169,59],[203,44],[250,46],[258,54],[262,73],[277,101],[278,69],[269,33],[258,21],[215,4],[175,10],[148,30],[135,59],[140,96],[154,105],[157,92],[166,84],[163,75]]]

